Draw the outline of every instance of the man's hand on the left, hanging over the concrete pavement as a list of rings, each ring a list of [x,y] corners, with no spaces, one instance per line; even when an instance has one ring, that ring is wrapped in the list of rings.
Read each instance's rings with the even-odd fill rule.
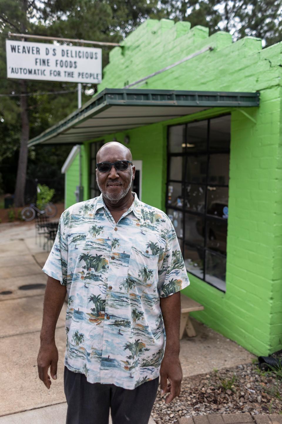
[[[52,343],[41,343],[37,357],[38,376],[44,382],[47,389],[50,388],[52,382],[48,375],[50,374],[53,380],[57,379],[57,364],[58,364],[58,349],[55,341]]]

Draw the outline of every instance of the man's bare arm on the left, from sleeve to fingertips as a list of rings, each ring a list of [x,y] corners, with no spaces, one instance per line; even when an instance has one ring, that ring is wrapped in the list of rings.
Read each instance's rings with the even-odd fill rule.
[[[47,389],[51,386],[51,379],[57,379],[58,350],[55,344],[55,328],[63,303],[66,297],[66,286],[59,280],[49,277],[44,295],[43,321],[40,334],[40,349],[37,357],[38,376]]]

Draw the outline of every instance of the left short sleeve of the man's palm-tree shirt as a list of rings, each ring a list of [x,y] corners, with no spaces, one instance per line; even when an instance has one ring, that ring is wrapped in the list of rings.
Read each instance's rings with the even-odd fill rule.
[[[63,212],[60,217],[57,235],[53,244],[52,250],[45,262],[42,271],[56,280],[59,280],[62,285],[67,282],[68,270],[68,242],[67,242],[67,222],[66,218],[69,215],[67,211]]]

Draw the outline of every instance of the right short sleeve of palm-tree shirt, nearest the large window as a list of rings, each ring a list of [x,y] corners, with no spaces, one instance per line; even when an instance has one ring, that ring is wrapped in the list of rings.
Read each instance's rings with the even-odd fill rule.
[[[189,286],[175,229],[169,218],[164,259],[159,268],[158,291],[160,297],[167,297]]]

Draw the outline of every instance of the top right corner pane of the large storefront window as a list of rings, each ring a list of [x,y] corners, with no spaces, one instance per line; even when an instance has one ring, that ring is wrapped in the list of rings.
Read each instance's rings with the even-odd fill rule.
[[[230,115],[210,120],[210,149],[230,148]]]

